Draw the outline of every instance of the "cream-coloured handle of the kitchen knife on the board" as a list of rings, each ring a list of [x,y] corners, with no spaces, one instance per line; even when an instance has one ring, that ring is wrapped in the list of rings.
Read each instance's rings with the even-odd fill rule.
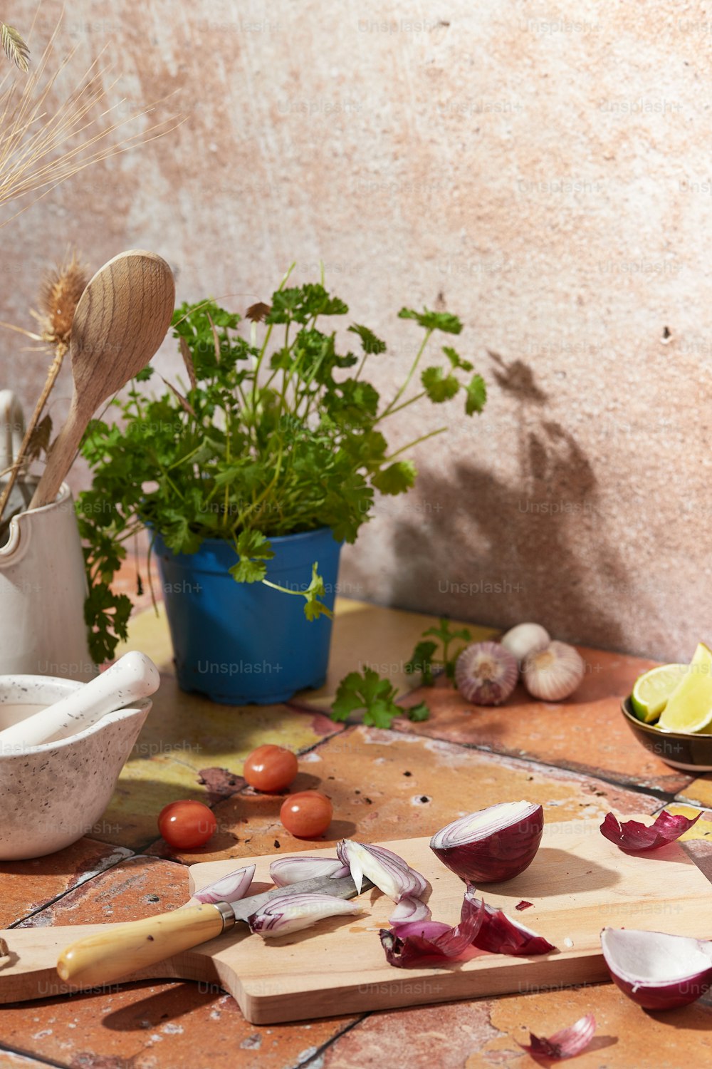
[[[232,910],[222,902],[201,902],[144,920],[130,920],[66,947],[57,961],[57,972],[77,987],[113,983],[215,939],[234,923]]]

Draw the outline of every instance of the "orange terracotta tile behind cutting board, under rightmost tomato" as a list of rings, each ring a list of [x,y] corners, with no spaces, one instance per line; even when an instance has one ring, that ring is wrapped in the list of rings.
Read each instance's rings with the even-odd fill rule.
[[[541,802],[549,820],[653,812],[660,800],[561,769],[453,743],[375,728],[350,728],[305,755],[291,791],[318,789],[334,820],[320,846],[344,837],[370,841],[430,835],[474,809],[503,800]],[[272,851],[308,850],[280,823],[281,796],[246,791],[215,807],[216,839],[185,861],[217,861]],[[275,846],[275,842],[279,846]],[[161,848],[154,847],[161,853]]]

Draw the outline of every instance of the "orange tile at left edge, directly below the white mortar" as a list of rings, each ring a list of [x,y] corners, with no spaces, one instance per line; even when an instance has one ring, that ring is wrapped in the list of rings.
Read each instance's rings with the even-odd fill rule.
[[[16,924],[128,854],[121,847],[84,838],[47,857],[0,862],[0,928]]]

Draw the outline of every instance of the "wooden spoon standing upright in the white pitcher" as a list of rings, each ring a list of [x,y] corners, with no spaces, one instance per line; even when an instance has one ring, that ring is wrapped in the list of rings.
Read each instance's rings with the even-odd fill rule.
[[[174,306],[171,268],[155,252],[121,252],[91,279],[72,324],[69,415],[52,446],[31,509],[54,500],[90,419],[148,363],[165,337]]]

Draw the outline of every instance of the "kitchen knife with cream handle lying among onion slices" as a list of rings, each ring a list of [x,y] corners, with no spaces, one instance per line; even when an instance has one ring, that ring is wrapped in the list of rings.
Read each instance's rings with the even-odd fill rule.
[[[364,879],[361,889],[369,890],[373,886],[369,880]],[[355,898],[357,894],[350,876],[337,880],[321,876],[286,887],[273,887],[237,902],[201,902],[199,905],[180,907],[144,920],[113,925],[106,932],[72,943],[60,955],[57,972],[63,980],[76,987],[101,987],[174,954],[189,950],[191,946],[207,943],[238,921],[247,924],[248,917],[273,898],[284,895]]]

